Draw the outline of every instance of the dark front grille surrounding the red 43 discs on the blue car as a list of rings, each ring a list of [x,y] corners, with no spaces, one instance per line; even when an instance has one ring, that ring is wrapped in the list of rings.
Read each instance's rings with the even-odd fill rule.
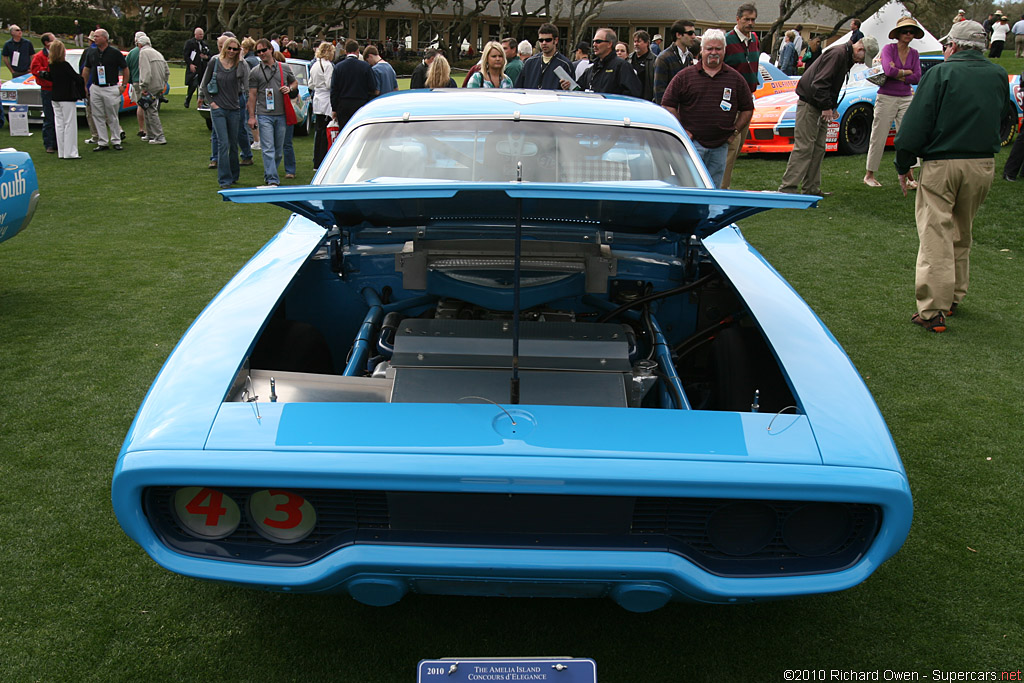
[[[882,523],[878,506],[854,503],[304,489],[293,493],[315,508],[316,525],[285,545],[256,531],[247,508],[253,489],[218,489],[242,512],[239,527],[219,541],[181,526],[175,490],[159,486],[143,495],[145,513],[167,546],[273,565],[306,564],[353,544],[384,544],[662,551],[723,577],[823,573],[856,563]],[[837,522],[829,525],[831,518]],[[818,536],[827,544],[815,543]]]

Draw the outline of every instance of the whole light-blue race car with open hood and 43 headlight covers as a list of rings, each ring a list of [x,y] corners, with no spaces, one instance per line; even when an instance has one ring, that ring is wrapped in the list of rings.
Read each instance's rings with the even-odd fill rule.
[[[272,591],[732,603],[839,591],[902,545],[856,369],[628,97],[361,108],[168,357],[117,461],[126,532]],[[246,207],[239,207],[245,211]]]

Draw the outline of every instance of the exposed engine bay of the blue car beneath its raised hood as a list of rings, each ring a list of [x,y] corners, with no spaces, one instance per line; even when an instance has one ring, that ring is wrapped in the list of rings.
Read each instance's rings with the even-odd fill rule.
[[[511,240],[336,238],[279,302],[227,400],[794,405],[695,239],[612,242],[523,241],[515,270]]]

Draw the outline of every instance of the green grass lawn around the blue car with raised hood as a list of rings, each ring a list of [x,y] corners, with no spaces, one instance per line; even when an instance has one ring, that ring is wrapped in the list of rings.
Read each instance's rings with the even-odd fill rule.
[[[647,614],[610,600],[409,596],[372,608],[160,568],[114,518],[115,458],[173,345],[286,218],[221,201],[206,126],[182,94],[165,105],[166,146],[139,142],[131,116],[124,152],[83,146],[81,161],[43,154],[38,128],[0,132],[0,145],[33,153],[42,191],[33,224],[0,245],[0,680],[412,681],[419,659],[449,655],[593,657],[605,682],[1020,668],[1024,185],[996,180],[970,295],[950,331],[931,335],[909,323],[913,199],[898,193],[891,152],[881,189],[861,184],[863,157],[829,156],[835,196],[820,209],[742,224],[850,353],[907,468],[909,539],[861,586]],[[287,182],[305,183],[312,140],[295,147]],[[773,189],[785,161],[743,158],[734,186]],[[261,181],[258,159],[242,169],[241,184]]]

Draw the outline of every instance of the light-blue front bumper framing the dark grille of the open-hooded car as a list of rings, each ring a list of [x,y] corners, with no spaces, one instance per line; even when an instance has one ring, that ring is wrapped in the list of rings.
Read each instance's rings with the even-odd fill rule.
[[[237,459],[224,467],[225,456]],[[487,461],[421,455],[148,452],[125,455],[114,478],[119,521],[161,566],[195,577],[270,591],[346,592],[369,604],[407,593],[611,597],[645,611],[670,600],[750,602],[841,591],[864,581],[902,545],[911,501],[901,472],[820,465],[605,460],[601,474],[579,458],[515,459],[514,471],[492,476]],[[283,467],[282,463],[288,466]],[[215,463],[211,465],[211,463]],[[414,464],[415,463],[415,464]],[[376,472],[371,469],[376,468]],[[344,471],[341,471],[344,470]],[[389,472],[390,470],[390,472]],[[473,476],[467,476],[473,472]],[[878,506],[873,543],[837,571],[798,575],[721,575],[665,550],[584,547],[473,547],[404,542],[355,542],[313,561],[259,564],[179,552],[155,530],[143,505],[150,486],[361,488],[557,496],[662,496],[836,501]]]

